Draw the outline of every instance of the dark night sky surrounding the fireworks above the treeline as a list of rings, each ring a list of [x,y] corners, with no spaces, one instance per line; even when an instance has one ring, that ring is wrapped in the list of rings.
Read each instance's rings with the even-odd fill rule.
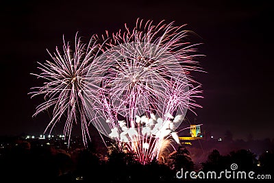
[[[49,114],[32,118],[40,98],[30,88],[40,82],[36,62],[49,58],[62,35],[116,32],[137,18],[187,24],[199,36],[208,72],[198,74],[203,97],[197,123],[214,136],[230,130],[235,138],[274,138],[273,6],[271,1],[8,1],[1,3],[0,135],[40,134]],[[188,114],[194,122],[195,116]],[[64,124],[60,124],[61,126]]]

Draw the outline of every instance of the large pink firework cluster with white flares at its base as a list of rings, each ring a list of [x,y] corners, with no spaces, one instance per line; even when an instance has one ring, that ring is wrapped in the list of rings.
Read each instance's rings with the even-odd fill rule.
[[[195,61],[200,55],[183,27],[142,20],[132,30],[125,25],[125,32],[103,39],[103,53],[88,71],[88,88],[99,88],[96,100],[85,95],[91,123],[127,142],[143,164],[158,158],[166,138],[179,143],[175,130],[186,111],[200,107],[195,98],[201,85],[190,75],[201,71]]]

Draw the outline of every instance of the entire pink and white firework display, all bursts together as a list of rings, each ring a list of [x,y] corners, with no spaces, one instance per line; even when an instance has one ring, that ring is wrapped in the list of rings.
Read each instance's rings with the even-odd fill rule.
[[[45,95],[36,114],[54,106],[52,127],[66,115],[64,133],[81,121],[84,143],[88,125],[100,134],[127,144],[146,164],[158,158],[166,140],[179,143],[175,131],[187,110],[201,107],[201,84],[191,76],[201,71],[196,45],[184,25],[137,20],[136,26],[106,36],[92,36],[75,49],[64,43],[53,62],[40,64],[37,75],[48,82],[34,95]],[[99,43],[98,43],[99,42]]]

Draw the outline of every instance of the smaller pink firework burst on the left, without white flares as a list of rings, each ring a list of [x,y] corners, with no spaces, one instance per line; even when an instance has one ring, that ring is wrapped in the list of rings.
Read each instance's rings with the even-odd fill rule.
[[[41,73],[32,73],[32,75],[42,78],[45,83],[44,86],[32,88],[35,91],[30,94],[32,97],[44,95],[45,99],[45,102],[36,108],[34,116],[53,107],[53,117],[45,132],[49,130],[51,134],[55,124],[60,121],[61,117],[64,117],[66,118],[64,135],[70,138],[73,123],[80,121],[83,141],[86,145],[87,138],[90,136],[83,90],[86,89],[86,74],[95,58],[97,47],[94,36],[88,44],[84,44],[76,34],[74,47],[64,41],[62,50],[56,47],[55,53],[48,51],[51,61],[38,62],[40,65],[38,69]]]

